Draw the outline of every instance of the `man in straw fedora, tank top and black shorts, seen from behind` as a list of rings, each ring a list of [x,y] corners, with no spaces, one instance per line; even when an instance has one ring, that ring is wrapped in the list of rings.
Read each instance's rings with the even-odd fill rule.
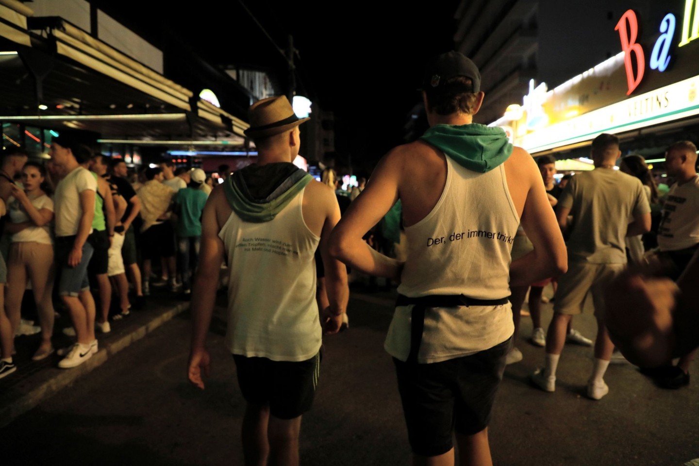
[[[226,347],[247,401],[243,418],[246,465],[298,464],[301,415],[310,409],[319,376],[323,333],[336,333],[347,307],[345,265],[327,251],[340,219],[335,193],[294,166],[301,134],[286,97],[248,110],[245,135],[257,163],[226,178],[208,198],[202,219],[200,266],[192,290],[189,380],[204,388],[205,347],[224,257],[230,270]],[[320,247],[330,305],[318,310],[314,253]]]

